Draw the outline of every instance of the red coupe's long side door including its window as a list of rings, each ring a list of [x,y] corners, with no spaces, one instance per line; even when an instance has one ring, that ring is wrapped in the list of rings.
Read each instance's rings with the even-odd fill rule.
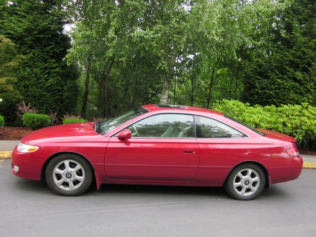
[[[110,179],[191,181],[199,147],[192,115],[158,114],[130,125],[130,139],[111,137],[105,154]]]

